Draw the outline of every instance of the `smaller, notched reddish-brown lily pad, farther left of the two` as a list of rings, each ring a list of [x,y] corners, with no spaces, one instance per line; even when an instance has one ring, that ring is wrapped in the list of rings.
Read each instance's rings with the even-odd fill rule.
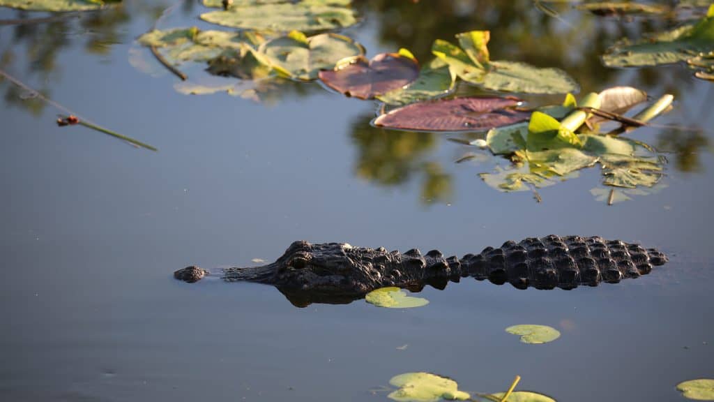
[[[323,70],[319,76],[328,87],[348,97],[372,99],[414,81],[419,64],[403,54],[382,53],[369,61],[363,56],[343,59],[335,69]]]

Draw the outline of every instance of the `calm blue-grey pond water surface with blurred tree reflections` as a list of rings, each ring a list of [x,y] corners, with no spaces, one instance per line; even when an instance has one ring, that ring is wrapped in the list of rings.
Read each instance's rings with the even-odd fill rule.
[[[635,132],[669,161],[655,194],[608,206],[590,193],[605,188],[600,173],[586,170],[539,190],[538,203],[488,187],[478,173],[498,160],[486,152],[457,164],[473,149],[453,135],[373,128],[376,103],[318,84],[265,103],[179,94],[176,77],[129,62],[169,3],[0,26],[6,72],[159,148],[59,128],[61,111],[0,82],[1,400],[387,401],[392,376],[428,371],[466,391],[505,391],[518,374],[518,389],[557,401],[680,401],[677,383],[714,376],[714,85],[680,66],[614,70],[598,59],[618,37],[665,24],[567,9],[563,22],[530,1],[356,3],[363,22],[346,33],[370,56],[407,47],[426,60],[433,39],[491,29],[499,57],[563,68],[582,92],[673,93],[657,123],[703,129]],[[186,1],[162,24],[206,27],[202,9]],[[26,16],[0,9],[0,19]],[[467,279],[425,288],[431,303],[408,310],[296,308],[271,286],[171,276],[274,260],[301,239],[463,255],[550,233],[640,242],[670,263],[572,291]],[[504,332],[525,323],[562,336],[526,345]]]

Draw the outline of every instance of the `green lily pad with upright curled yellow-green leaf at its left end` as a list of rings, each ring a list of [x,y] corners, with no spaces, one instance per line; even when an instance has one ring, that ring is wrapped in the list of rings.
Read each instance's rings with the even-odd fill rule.
[[[466,82],[483,89],[532,94],[577,92],[578,84],[560,69],[541,69],[521,62],[492,61],[489,56],[488,31],[456,35],[461,47],[436,40],[432,53],[449,64]]]

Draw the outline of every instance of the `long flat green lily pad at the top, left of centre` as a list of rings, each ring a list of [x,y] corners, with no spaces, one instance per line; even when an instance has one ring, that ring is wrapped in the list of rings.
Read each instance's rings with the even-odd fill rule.
[[[201,19],[240,29],[303,32],[341,29],[357,22],[354,11],[346,6],[314,1],[231,6],[227,11],[201,14]]]

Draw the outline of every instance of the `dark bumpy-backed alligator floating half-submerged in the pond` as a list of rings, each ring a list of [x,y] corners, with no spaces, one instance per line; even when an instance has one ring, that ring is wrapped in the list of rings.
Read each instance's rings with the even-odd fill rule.
[[[275,263],[248,268],[225,268],[223,280],[274,285],[294,305],[349,303],[377,288],[397,286],[419,291],[425,285],[443,289],[460,278],[488,279],[497,285],[508,282],[518,289],[597,286],[618,283],[650,273],[667,256],[635,243],[603,240],[602,237],[529,237],[508,241],[501,247],[486,247],[480,254],[459,259],[438,250],[424,255],[415,249],[406,253],[353,247],[347,243],[311,244],[293,242]],[[174,273],[188,283],[211,275],[189,266]]]

